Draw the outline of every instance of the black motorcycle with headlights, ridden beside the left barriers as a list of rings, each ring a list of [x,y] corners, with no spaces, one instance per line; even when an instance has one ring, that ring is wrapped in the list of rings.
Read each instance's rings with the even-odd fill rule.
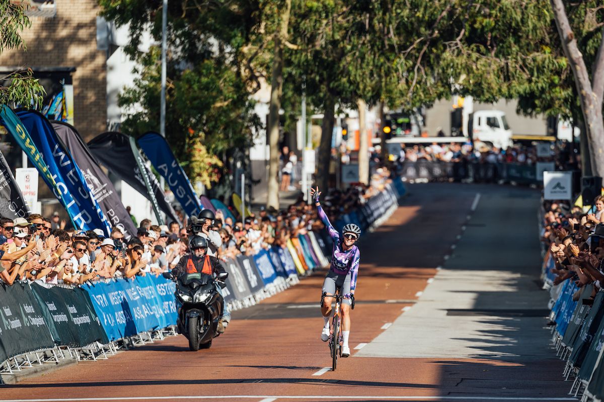
[[[214,283],[224,287],[228,272],[222,272],[214,279],[211,275],[194,273],[173,277],[172,272],[164,272],[164,278],[176,281],[176,306],[178,332],[187,337],[189,349],[208,349],[212,339],[219,336],[218,324],[222,319],[224,299]]]

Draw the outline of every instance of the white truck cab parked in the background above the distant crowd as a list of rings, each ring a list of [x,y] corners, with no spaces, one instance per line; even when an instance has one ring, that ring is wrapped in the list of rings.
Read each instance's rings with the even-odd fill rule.
[[[468,118],[467,136],[472,142],[483,142],[498,148],[512,146],[512,130],[506,113],[501,110],[479,110]]]

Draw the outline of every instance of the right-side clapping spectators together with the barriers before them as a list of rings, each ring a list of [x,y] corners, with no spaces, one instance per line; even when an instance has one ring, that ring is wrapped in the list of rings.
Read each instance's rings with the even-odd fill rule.
[[[585,211],[568,201],[544,201],[542,279],[550,292],[557,356],[566,360],[571,394],[604,398],[604,197]]]

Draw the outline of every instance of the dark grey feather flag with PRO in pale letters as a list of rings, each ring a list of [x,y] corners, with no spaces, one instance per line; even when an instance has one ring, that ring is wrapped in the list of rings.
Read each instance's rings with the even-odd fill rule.
[[[51,121],[51,124],[64,148],[69,149],[71,156],[82,170],[86,184],[94,194],[98,206],[103,210],[105,218],[109,219],[112,226],[117,226],[123,231],[126,240],[129,240],[132,236],[137,236],[137,228],[134,227],[124,204],[121,203],[120,195],[115,190],[109,177],[104,174],[103,169],[98,165],[97,160],[92,156],[80,133],[64,122]]]

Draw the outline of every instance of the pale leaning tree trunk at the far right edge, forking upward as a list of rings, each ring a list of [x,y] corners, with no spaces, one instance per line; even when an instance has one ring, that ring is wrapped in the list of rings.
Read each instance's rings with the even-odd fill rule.
[[[602,95],[604,92],[604,51],[602,51],[602,48],[604,37],[601,39],[600,49],[594,63],[594,87],[592,87],[583,55],[579,51],[577,40],[568,22],[564,4],[562,0],[550,0],[550,2],[562,49],[564,49],[564,54],[570,61],[577,93],[579,93],[583,126],[585,127],[589,146],[588,154],[591,160],[591,171],[597,176],[604,177],[604,121],[602,121]],[[583,140],[581,148],[583,149]],[[582,160],[586,156],[586,154],[582,154]]]

